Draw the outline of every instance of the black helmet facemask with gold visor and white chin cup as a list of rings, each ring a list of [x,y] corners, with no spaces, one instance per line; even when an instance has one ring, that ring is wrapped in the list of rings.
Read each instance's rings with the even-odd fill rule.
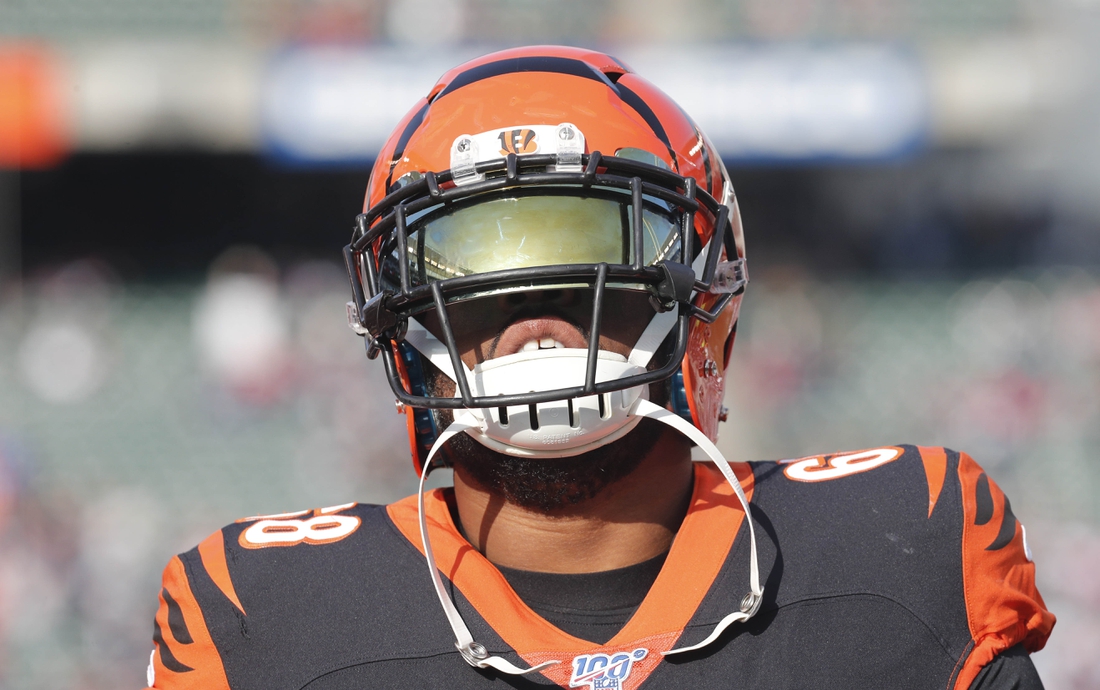
[[[360,216],[345,249],[349,317],[369,354],[383,355],[399,403],[452,409],[499,452],[579,454],[632,429],[649,384],[679,370],[690,319],[713,321],[740,293],[744,260],[719,264],[723,249],[738,255],[729,206],[656,165],[598,152],[581,162],[561,172],[554,155],[509,154],[476,164],[463,184],[450,171],[427,173]],[[698,234],[717,241],[702,248]],[[710,309],[693,304],[707,291],[723,294]],[[526,316],[502,309],[486,319],[486,304],[532,294],[580,295],[538,309],[583,332],[586,346],[503,357],[471,349],[471,331],[499,332]],[[628,349],[605,349],[622,324],[635,326],[615,339]],[[653,360],[666,339],[668,357]],[[453,394],[403,377],[399,343],[453,381]]]

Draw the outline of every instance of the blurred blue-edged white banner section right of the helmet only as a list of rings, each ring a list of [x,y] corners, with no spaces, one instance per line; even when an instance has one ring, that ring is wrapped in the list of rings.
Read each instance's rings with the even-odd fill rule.
[[[925,75],[893,45],[732,45],[627,59],[735,162],[892,158],[928,136]]]

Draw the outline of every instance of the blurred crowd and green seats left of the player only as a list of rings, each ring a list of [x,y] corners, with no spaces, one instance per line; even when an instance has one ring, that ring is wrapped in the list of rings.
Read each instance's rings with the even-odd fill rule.
[[[141,687],[172,555],[413,491],[344,281],[234,249],[200,286],[77,262],[0,305],[0,688]]]

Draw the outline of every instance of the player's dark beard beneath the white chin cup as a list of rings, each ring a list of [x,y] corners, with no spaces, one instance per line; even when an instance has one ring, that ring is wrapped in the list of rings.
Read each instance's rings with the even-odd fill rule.
[[[455,469],[482,489],[549,514],[594,499],[634,472],[662,431],[659,423],[641,419],[617,441],[568,458],[517,458],[486,448],[469,434],[452,438],[448,450]]]

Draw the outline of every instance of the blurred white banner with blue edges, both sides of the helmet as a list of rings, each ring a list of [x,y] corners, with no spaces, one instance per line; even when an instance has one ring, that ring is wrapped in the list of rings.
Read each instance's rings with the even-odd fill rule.
[[[924,75],[892,46],[726,46],[624,59],[733,161],[882,160],[927,139]],[[264,144],[296,162],[370,160],[453,62],[371,48],[287,51],[264,79]]]

